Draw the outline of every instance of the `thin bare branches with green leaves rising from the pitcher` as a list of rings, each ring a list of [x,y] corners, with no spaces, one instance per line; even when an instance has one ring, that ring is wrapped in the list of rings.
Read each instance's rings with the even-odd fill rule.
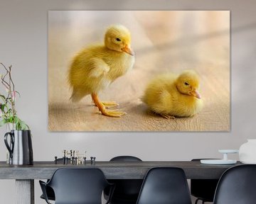
[[[16,96],[21,95],[15,90],[14,81],[11,78],[11,66],[7,68],[3,63],[0,64],[5,71],[5,74],[0,74],[1,84],[6,89],[6,94],[0,92],[0,127],[6,123],[14,123],[16,130],[29,130],[28,125],[17,116]]]

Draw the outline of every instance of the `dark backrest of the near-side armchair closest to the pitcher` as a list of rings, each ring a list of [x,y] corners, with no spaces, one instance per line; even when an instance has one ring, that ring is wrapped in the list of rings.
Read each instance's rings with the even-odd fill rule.
[[[101,204],[108,184],[100,169],[57,169],[48,182],[55,204]]]

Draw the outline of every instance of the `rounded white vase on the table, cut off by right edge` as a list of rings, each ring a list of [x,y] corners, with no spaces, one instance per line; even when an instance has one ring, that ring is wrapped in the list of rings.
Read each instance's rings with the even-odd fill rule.
[[[247,140],[240,146],[239,160],[243,164],[256,164],[256,139]]]

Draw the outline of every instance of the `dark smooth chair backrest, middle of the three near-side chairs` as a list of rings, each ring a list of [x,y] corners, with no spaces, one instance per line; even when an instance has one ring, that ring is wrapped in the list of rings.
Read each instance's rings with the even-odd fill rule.
[[[156,167],[146,174],[137,204],[191,204],[183,169]]]

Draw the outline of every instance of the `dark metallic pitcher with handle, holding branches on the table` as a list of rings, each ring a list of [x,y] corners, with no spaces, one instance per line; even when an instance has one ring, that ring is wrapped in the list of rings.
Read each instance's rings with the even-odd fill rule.
[[[8,137],[10,137],[8,142]],[[11,130],[4,135],[4,143],[10,152],[9,164],[33,164],[30,130]]]

